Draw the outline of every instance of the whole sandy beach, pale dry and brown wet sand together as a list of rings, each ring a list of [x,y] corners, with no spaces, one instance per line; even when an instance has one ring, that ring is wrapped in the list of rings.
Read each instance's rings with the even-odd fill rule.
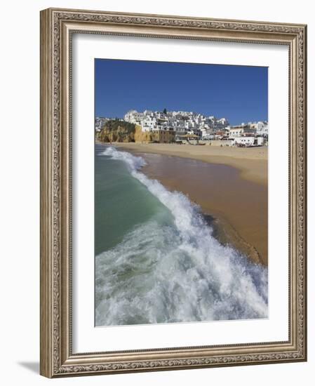
[[[145,174],[199,204],[223,244],[232,244],[251,260],[267,265],[266,147],[114,145],[144,157]]]

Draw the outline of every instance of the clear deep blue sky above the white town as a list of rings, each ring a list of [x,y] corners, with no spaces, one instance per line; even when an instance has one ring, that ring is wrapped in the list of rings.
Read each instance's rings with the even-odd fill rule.
[[[95,59],[95,116],[184,110],[230,124],[268,119],[268,68]]]

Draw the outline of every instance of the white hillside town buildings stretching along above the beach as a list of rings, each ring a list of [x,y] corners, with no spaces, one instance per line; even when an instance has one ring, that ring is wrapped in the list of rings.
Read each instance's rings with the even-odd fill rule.
[[[95,131],[108,132],[107,124],[113,119],[96,117]],[[226,118],[217,119],[196,112],[145,110],[128,111],[121,125],[134,125],[135,142],[187,143],[190,145],[219,145],[251,147],[268,144],[268,122],[257,121],[232,126]],[[130,139],[129,139],[130,140]],[[123,142],[123,140],[121,140]]]

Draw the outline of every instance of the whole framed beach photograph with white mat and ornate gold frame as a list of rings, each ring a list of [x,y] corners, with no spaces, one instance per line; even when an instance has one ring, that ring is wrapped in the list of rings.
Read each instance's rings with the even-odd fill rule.
[[[41,11],[41,375],[306,361],[306,39]]]

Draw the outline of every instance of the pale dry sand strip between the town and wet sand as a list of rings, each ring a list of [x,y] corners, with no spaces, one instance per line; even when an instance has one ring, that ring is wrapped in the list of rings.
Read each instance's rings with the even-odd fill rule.
[[[113,145],[133,152],[165,154],[210,164],[233,166],[239,170],[243,179],[265,186],[268,184],[267,147],[193,146],[140,142],[114,143]]]

